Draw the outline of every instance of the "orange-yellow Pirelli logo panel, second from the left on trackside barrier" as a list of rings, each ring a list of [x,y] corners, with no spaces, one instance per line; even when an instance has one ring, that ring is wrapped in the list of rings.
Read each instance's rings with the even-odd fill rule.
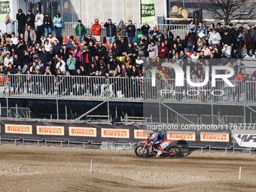
[[[38,135],[64,136],[64,126],[36,126]]]

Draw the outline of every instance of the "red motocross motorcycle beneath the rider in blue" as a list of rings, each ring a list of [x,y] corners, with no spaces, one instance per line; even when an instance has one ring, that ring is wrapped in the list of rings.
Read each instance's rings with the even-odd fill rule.
[[[142,142],[139,142],[139,145],[135,148],[135,154],[137,157],[150,157],[156,156],[157,151],[151,150],[152,143],[150,141],[151,134],[148,134],[148,139]],[[167,155],[169,157],[180,157],[181,156],[181,148],[176,145],[178,141],[175,140],[164,140],[157,146],[157,148],[162,152],[163,155]]]

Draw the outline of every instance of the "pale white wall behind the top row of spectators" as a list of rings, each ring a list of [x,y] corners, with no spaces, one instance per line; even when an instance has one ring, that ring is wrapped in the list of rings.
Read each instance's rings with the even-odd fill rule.
[[[19,1],[19,8],[23,9],[26,14],[26,2],[24,0],[11,0],[13,2]],[[29,0],[29,3],[43,2],[39,0]],[[128,20],[133,20],[133,23],[140,23],[140,1],[138,0],[58,0],[59,11],[65,2],[70,2],[72,5],[69,8],[69,17],[64,21],[77,21],[81,19],[83,23],[93,23],[95,18],[103,23],[111,18],[114,23],[119,23],[120,19],[127,23]],[[42,3],[43,5],[43,3]],[[16,8],[16,12],[17,12]],[[44,8],[46,11],[47,8]],[[63,9],[64,10],[64,9]],[[157,23],[157,15],[166,15],[166,1],[155,0],[156,20],[151,23]]]

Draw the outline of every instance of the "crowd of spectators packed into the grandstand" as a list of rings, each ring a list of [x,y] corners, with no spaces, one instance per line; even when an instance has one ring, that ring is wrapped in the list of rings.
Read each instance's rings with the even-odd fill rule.
[[[151,77],[148,66],[176,62],[184,69],[190,66],[190,77],[194,79],[204,79],[205,66],[227,65],[235,69],[233,80],[256,81],[256,71],[245,78],[245,65],[241,61],[245,46],[245,57],[254,58],[256,34],[251,26],[235,29],[230,23],[224,29],[221,23],[217,27],[211,23],[206,28],[203,23],[195,25],[190,20],[185,38],[182,39],[174,37],[166,27],[160,31],[157,26],[151,28],[148,23],[136,29],[132,20],[128,21],[128,25],[123,20],[115,25],[109,19],[101,25],[96,19],[90,34],[78,20],[75,34],[70,34],[69,40],[63,41],[62,17],[58,11],[51,19],[47,12],[42,14],[38,10],[34,15],[29,10],[25,15],[20,9],[17,22],[19,35],[14,31],[14,21],[10,17],[5,20],[6,32],[1,38],[1,74],[123,77],[131,79],[129,84],[141,86],[143,77]],[[101,39],[103,27],[107,44],[103,44],[104,39]],[[166,72],[168,78],[175,78],[171,69],[166,69]],[[97,87],[95,94],[102,95],[105,84],[94,82],[93,86]],[[114,89],[117,87],[111,88]],[[93,94],[91,90],[90,94]],[[136,97],[142,94],[142,87],[137,88]]]

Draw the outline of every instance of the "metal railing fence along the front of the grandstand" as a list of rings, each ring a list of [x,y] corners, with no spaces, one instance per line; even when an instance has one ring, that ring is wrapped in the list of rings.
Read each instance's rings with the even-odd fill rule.
[[[256,81],[209,81],[203,87],[176,87],[175,79],[95,76],[0,75],[0,96],[30,99],[85,99],[126,102],[172,102],[215,105],[256,105]],[[197,83],[201,80],[194,81]]]

